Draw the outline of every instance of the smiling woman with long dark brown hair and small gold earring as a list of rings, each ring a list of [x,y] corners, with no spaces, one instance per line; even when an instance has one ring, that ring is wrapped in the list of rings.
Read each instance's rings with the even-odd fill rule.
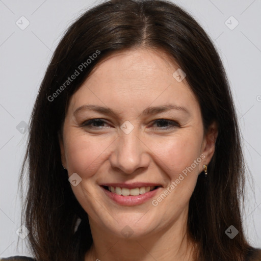
[[[261,258],[242,226],[244,161],[224,68],[170,2],[109,1],[75,21],[28,144],[22,223],[35,260]]]

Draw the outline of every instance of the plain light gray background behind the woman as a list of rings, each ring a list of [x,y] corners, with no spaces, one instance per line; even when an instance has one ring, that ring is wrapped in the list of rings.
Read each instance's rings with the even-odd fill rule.
[[[261,1],[173,1],[184,7],[215,41],[226,68],[244,141],[250,176],[244,225],[261,246]],[[30,255],[19,240],[18,174],[34,100],[53,51],[68,25],[99,1],[0,0],[0,256]],[[24,30],[20,27],[29,26]],[[230,18],[233,16],[234,18]],[[22,21],[21,21],[22,19]],[[237,21],[239,22],[237,25]],[[230,27],[230,28],[229,28]],[[233,29],[233,30],[231,30]],[[254,193],[252,192],[254,190]],[[231,224],[232,225],[232,224]],[[225,232],[225,231],[221,231]],[[48,239],[46,239],[48,240]]]

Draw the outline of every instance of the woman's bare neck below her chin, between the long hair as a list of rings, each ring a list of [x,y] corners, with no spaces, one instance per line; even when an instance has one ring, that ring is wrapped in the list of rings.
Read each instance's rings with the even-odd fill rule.
[[[89,219],[93,244],[86,252],[85,261],[166,261],[193,260],[196,247],[187,236],[187,219],[180,218],[170,226],[154,229],[143,237],[122,238],[105,230]]]

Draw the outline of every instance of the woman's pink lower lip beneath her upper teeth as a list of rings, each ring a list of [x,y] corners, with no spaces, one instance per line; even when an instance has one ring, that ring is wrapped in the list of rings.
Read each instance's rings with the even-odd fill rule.
[[[103,188],[102,186],[100,186],[100,187],[102,188],[102,190],[105,192],[105,194],[109,198],[111,198],[116,203],[118,203],[120,205],[125,205],[125,206],[134,206],[134,205],[142,204],[142,203],[146,202],[147,200],[149,200],[150,198],[152,198],[153,196],[155,196],[155,194],[160,189],[160,188],[157,188],[157,189],[151,190],[149,192],[145,192],[144,194],[141,194],[138,196],[122,196],[122,195],[118,195],[116,193],[112,193],[111,191]]]

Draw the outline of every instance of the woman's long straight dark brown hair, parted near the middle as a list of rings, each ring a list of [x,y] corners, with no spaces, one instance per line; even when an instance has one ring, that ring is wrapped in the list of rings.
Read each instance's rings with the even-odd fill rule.
[[[199,175],[189,203],[189,237],[198,243],[195,260],[243,261],[250,247],[240,211],[245,166],[226,74],[213,42],[195,19],[158,0],[104,2],[77,19],[57,46],[34,105],[20,176],[21,191],[24,179],[28,184],[22,224],[30,231],[29,247],[41,261],[83,260],[90,248],[88,215],[62,167],[58,134],[70,97],[93,67],[114,52],[139,47],[164,50],[174,59],[198,99],[204,129],[218,123],[207,178]],[[64,85],[80,65],[80,74]],[[79,217],[82,222],[74,233]],[[239,231],[233,239],[225,234],[230,225]]]

